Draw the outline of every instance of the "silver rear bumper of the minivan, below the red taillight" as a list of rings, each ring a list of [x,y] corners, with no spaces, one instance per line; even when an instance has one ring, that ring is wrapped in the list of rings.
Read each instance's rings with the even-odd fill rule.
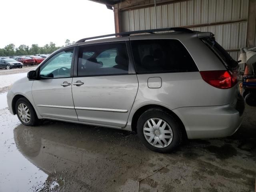
[[[242,101],[244,103],[244,101]],[[241,103],[242,103],[241,102]],[[240,105],[242,105],[240,103]],[[183,107],[173,110],[183,122],[189,139],[219,138],[234,134],[242,124],[243,111],[230,104]]]

